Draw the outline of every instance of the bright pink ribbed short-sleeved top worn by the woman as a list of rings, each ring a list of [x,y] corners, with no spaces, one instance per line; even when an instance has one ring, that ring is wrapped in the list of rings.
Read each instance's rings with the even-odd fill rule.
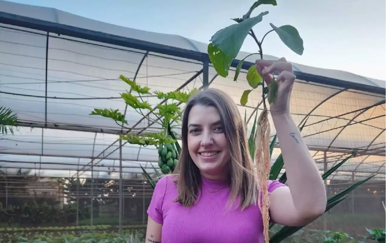
[[[263,224],[258,206],[249,206],[242,211],[240,208],[229,208],[228,188],[210,193],[225,184],[206,178],[202,180],[199,199],[191,208],[173,202],[177,198],[177,187],[170,176],[157,182],[147,214],[163,224],[161,242],[262,243]],[[286,185],[269,181],[268,191],[272,192],[279,186]]]

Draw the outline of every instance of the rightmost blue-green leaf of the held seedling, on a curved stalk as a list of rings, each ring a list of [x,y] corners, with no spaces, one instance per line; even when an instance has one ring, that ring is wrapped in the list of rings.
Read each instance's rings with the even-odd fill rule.
[[[271,27],[279,35],[279,38],[283,43],[289,47],[293,52],[298,55],[302,55],[304,51],[303,39],[301,39],[298,30],[292,25],[283,25],[281,27],[276,27],[270,23]]]

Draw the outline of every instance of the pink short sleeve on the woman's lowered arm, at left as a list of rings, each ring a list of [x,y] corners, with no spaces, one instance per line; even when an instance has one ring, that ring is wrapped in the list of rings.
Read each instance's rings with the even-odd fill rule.
[[[147,214],[159,224],[163,224],[164,221],[162,205],[166,192],[167,179],[167,176],[159,179],[156,184],[156,187],[154,188],[149,208],[147,208]]]

